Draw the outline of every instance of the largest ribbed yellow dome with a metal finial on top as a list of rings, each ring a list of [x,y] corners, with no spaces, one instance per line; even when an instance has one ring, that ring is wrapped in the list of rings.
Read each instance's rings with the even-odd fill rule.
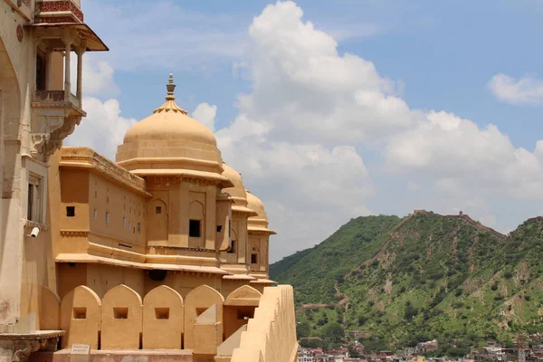
[[[166,101],[127,131],[117,164],[138,176],[186,175],[232,186],[222,175],[223,158],[213,132],[177,106],[175,88],[170,73]]]

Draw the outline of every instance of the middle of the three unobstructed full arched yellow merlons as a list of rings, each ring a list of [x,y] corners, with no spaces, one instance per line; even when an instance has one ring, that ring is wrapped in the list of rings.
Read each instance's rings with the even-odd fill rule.
[[[121,284],[108,291],[101,308],[101,349],[138,349],[142,328],[139,294]]]

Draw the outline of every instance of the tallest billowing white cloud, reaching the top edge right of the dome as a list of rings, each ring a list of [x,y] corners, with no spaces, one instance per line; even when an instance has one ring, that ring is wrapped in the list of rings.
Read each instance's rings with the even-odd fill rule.
[[[372,62],[338,54],[336,41],[301,16],[300,7],[285,2],[254,18],[254,87],[238,99],[244,115],[273,124],[271,138],[329,146],[382,137],[417,119],[397,97],[394,81]]]

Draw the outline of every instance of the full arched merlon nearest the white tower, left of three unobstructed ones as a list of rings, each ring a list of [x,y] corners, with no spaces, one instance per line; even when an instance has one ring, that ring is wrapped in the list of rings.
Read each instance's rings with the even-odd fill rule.
[[[69,291],[61,304],[61,328],[66,331],[62,348],[74,343],[98,349],[101,302],[98,294],[85,285]]]

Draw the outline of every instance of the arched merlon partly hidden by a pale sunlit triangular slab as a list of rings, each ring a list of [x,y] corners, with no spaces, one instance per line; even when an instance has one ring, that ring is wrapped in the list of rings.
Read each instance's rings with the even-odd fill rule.
[[[216,305],[216,321],[223,320],[224,297],[208,285],[201,285],[190,291],[185,298],[185,348],[195,348],[196,319],[210,307]],[[222,326],[221,326],[222,328]],[[222,331],[221,331],[222,336]]]

